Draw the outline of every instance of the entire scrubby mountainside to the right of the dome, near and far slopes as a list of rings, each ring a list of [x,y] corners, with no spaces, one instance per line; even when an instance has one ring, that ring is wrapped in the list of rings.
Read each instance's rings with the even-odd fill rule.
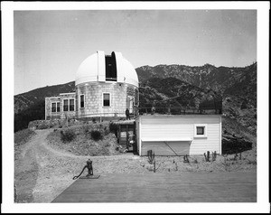
[[[160,100],[160,97],[166,99],[181,95],[179,99],[186,101],[186,104],[190,98],[193,98],[187,106],[189,108],[193,106],[193,102],[197,104],[204,98],[221,96],[224,116],[237,120],[256,135],[257,63],[244,68],[216,68],[205,64],[201,67],[143,66],[135,70],[141,86],[141,105],[152,103],[153,98]],[[174,101],[176,105],[177,98]]]

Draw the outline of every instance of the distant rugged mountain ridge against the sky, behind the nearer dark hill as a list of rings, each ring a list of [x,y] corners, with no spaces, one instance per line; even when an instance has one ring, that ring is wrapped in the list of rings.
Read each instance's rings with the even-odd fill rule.
[[[220,94],[245,96],[256,105],[257,63],[244,68],[215,67],[205,64],[201,67],[183,65],[143,66],[135,69],[141,83],[151,78],[175,78],[201,89],[213,89]],[[241,90],[241,91],[239,91]]]

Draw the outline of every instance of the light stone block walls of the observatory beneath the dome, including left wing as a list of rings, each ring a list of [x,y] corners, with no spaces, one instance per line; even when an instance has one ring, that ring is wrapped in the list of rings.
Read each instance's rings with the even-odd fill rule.
[[[103,93],[110,94],[110,106],[103,105]],[[80,108],[80,95],[85,96],[85,107]],[[127,97],[135,98],[138,105],[138,89],[129,84],[117,82],[97,82],[76,86],[74,93],[61,93],[60,97],[45,98],[45,119],[87,118],[87,117],[126,117]],[[74,99],[74,111],[63,111],[64,99]],[[51,112],[51,102],[61,102],[60,112]]]

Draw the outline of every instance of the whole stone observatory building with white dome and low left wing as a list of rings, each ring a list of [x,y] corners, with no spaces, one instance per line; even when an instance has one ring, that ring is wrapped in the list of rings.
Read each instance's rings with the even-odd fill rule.
[[[79,65],[75,92],[45,98],[45,119],[126,117],[138,107],[138,78],[121,52],[97,51]]]

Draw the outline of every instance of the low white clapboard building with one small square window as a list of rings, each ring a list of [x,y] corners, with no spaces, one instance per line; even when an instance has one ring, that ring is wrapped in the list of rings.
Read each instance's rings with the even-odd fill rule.
[[[221,154],[220,115],[141,115],[135,125],[139,155]]]

